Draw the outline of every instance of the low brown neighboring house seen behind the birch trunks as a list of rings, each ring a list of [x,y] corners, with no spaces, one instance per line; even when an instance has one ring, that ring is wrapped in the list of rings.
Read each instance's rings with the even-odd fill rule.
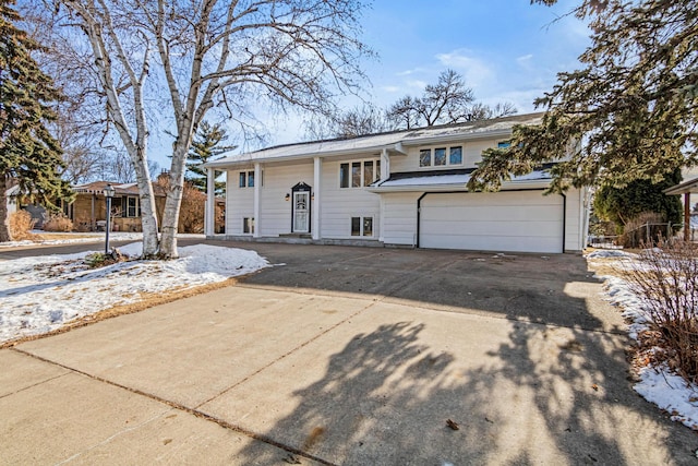
[[[63,212],[73,222],[79,231],[94,231],[104,229],[107,219],[107,201],[105,188],[111,184],[115,196],[111,200],[111,225],[113,231],[142,231],[141,199],[136,183],[109,183],[95,181],[73,187],[75,201],[63,206]],[[153,183],[155,206],[158,218],[165,210],[165,191]]]

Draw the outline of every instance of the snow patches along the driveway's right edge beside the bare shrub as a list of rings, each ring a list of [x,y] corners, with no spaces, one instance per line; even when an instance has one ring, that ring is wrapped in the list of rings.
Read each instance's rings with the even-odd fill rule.
[[[590,265],[611,265],[616,270],[628,267],[640,268],[635,261],[636,254],[623,251],[597,250],[586,255]],[[599,277],[604,280],[609,300],[623,310],[623,316],[629,321],[628,333],[637,339],[638,334],[648,328],[649,318],[645,311],[643,300],[636,295],[629,284],[617,276]],[[672,420],[698,430],[698,386],[688,384],[683,378],[672,373],[665,365],[648,366],[640,369],[640,381],[634,389],[648,402],[671,414]]]

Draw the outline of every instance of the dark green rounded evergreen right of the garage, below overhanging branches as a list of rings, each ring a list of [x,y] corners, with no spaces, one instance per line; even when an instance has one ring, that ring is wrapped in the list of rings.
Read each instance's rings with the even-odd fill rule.
[[[594,212],[600,218],[611,220],[621,228],[645,212],[661,214],[664,222],[678,225],[683,212],[681,200],[677,195],[664,194],[664,190],[678,184],[681,180],[681,170],[676,169],[658,183],[635,180],[624,188],[604,187],[594,196]]]

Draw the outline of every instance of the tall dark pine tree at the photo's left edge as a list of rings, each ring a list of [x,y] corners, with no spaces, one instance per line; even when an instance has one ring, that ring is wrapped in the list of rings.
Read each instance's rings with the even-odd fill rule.
[[[70,186],[60,177],[60,145],[46,128],[56,118],[50,105],[60,93],[32,58],[40,46],[13,24],[21,20],[11,8],[14,3],[0,0],[0,242],[11,239],[5,196],[10,178],[49,207],[56,207],[57,199],[70,198]]]

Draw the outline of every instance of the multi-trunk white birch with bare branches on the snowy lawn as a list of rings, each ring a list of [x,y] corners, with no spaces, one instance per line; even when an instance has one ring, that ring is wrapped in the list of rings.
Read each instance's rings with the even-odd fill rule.
[[[177,256],[177,225],[193,134],[212,109],[230,118],[255,104],[327,111],[357,92],[360,0],[56,0],[94,57],[108,119],[136,171],[144,256]],[[160,84],[158,86],[157,84]],[[165,87],[174,126],[158,241],[147,168],[148,110]]]

